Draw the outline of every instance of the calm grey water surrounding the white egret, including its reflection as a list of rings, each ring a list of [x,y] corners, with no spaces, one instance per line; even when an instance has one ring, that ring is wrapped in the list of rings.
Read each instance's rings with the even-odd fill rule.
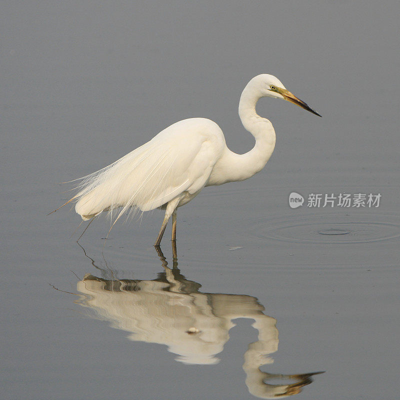
[[[4,2],[1,398],[397,398],[399,9]],[[323,117],[261,100],[272,157],[179,208],[175,259],[168,229],[152,246],[158,211],[105,245],[96,220],[82,247],[73,210],[46,216],[70,196],[58,182],[179,119],[213,119],[247,151],[237,103],[258,73]],[[307,206],[332,193],[381,197]]]

